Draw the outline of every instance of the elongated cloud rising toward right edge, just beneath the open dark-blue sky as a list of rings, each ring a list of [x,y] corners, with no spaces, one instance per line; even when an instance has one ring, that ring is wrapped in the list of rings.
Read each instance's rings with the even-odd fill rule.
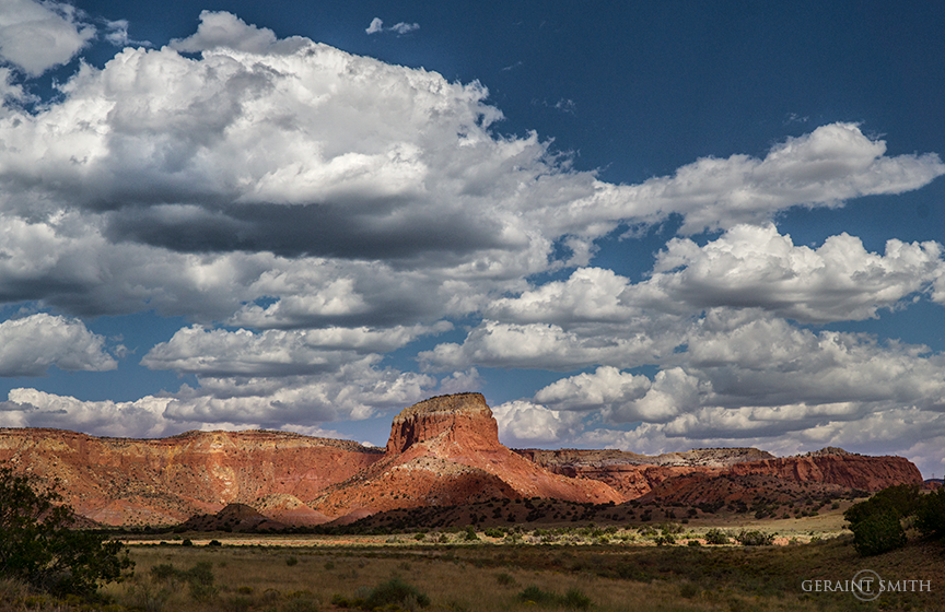
[[[763,223],[796,205],[832,208],[861,196],[901,193],[945,174],[938,155],[885,153],[886,143],[867,138],[859,126],[831,123],[775,144],[763,160],[701,158],[672,177],[619,191],[632,202],[633,216],[675,212],[684,219],[681,233],[698,234]]]

